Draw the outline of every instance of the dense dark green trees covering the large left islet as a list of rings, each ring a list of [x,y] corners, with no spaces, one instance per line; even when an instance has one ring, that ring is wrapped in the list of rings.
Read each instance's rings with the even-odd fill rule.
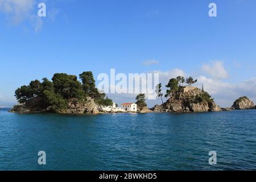
[[[113,105],[112,100],[96,88],[92,72],[83,72],[79,78],[81,82],[75,75],[55,73],[52,81],[43,78],[42,82],[31,81],[29,85],[16,89],[15,97],[20,104],[26,104],[33,98],[40,98],[38,107],[51,107],[52,110],[66,109],[69,101],[85,101],[86,97],[93,98],[99,105]]]

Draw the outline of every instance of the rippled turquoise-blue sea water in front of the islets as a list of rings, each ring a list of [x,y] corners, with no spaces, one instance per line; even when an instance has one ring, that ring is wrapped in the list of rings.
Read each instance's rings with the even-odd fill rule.
[[[39,166],[38,152],[46,151]],[[217,165],[208,163],[217,152]],[[0,170],[256,169],[256,110],[14,114],[0,109]]]

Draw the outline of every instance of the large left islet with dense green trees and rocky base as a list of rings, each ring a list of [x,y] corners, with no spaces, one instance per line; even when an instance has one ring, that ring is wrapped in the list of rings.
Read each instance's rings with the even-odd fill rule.
[[[98,105],[113,104],[96,88],[92,72],[83,72],[79,77],[81,82],[75,75],[56,73],[52,81],[43,78],[43,82],[35,80],[21,86],[15,91],[19,104],[10,112],[98,114]]]

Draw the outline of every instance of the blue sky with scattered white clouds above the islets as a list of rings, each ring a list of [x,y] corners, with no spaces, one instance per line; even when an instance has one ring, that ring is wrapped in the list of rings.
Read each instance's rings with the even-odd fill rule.
[[[14,90],[31,80],[110,68],[158,71],[163,82],[191,75],[221,106],[243,95],[256,102],[255,10],[254,0],[0,0],[0,106],[15,104]]]

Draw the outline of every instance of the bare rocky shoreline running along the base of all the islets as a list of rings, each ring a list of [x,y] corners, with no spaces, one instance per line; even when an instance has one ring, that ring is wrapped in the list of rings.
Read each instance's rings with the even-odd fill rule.
[[[68,103],[67,109],[52,110],[51,107],[46,109],[36,107],[37,102],[40,102],[40,98],[34,98],[28,101],[24,105],[16,105],[10,110],[11,113],[59,113],[59,114],[108,114],[108,113],[199,113],[209,111],[232,111],[241,109],[256,109],[253,101],[250,101],[247,97],[240,97],[232,107],[220,107],[213,100],[195,102],[194,99],[202,91],[198,88],[193,88],[188,92],[179,92],[177,96],[171,97],[162,105],[155,105],[148,109],[142,107],[137,112],[129,111],[117,111],[111,109],[110,111],[102,110],[102,106],[96,104],[90,97],[86,98],[86,101],[71,100]]]

